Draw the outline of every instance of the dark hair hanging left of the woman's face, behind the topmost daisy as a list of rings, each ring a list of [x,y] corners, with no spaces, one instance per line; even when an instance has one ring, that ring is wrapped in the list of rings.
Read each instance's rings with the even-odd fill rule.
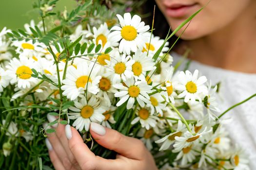
[[[154,19],[155,30],[153,31],[153,34],[164,39],[168,34],[170,26],[167,20],[165,19],[165,17],[163,16],[162,12],[160,11],[160,9],[158,8],[155,0],[146,0],[144,4],[141,6],[143,8],[141,8],[140,13],[142,14],[142,16],[145,16],[143,18],[143,21],[145,21],[145,23],[147,25],[150,25],[150,27],[152,28],[154,6],[156,6],[156,9],[155,9],[155,19]],[[172,45],[176,40],[177,40],[177,36],[173,36],[172,38],[170,38],[169,39],[170,45]],[[177,47],[177,44],[175,46]]]

